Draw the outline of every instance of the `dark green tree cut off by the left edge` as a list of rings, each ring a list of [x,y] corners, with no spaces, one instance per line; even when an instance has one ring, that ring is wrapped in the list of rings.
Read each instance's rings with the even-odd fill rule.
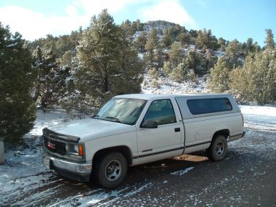
[[[0,139],[9,143],[17,143],[35,119],[32,56],[24,44],[0,23]]]

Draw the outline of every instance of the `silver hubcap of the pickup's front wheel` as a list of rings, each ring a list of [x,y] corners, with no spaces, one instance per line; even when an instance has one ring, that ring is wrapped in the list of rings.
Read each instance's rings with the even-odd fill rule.
[[[121,176],[121,162],[116,159],[108,162],[106,165],[105,175],[108,181],[117,181],[117,179]]]

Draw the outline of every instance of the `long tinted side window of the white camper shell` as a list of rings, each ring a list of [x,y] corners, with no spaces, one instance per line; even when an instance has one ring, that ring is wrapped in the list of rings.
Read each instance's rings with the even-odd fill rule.
[[[227,98],[188,99],[187,105],[193,115],[233,110],[233,107]]]

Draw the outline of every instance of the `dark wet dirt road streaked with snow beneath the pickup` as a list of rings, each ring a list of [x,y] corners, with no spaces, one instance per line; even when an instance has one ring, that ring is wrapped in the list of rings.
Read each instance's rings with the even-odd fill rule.
[[[224,161],[199,152],[135,166],[115,190],[38,170],[6,181],[0,206],[276,206],[276,119],[245,119],[246,137],[229,143]]]

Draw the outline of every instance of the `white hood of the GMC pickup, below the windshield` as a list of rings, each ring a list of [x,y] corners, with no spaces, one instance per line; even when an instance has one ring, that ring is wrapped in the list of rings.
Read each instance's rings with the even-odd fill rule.
[[[132,132],[136,130],[136,127],[135,125],[88,118],[50,126],[48,129],[63,135],[80,137],[79,141],[84,142],[100,137]]]

